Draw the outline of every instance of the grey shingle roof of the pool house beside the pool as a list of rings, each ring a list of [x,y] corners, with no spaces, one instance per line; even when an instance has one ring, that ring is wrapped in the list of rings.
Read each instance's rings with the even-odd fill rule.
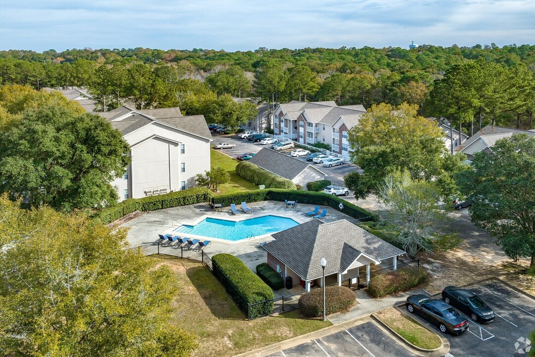
[[[325,274],[330,275],[346,271],[360,254],[377,261],[405,254],[346,219],[330,223],[313,219],[272,236],[276,240],[263,247],[305,280],[322,275],[323,257]]]

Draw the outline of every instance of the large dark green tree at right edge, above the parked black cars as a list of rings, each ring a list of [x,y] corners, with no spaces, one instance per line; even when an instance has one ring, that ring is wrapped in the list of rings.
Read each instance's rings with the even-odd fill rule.
[[[460,181],[463,193],[475,201],[472,222],[511,259],[530,258],[535,267],[535,138],[500,139],[491,152],[477,153],[472,166]]]

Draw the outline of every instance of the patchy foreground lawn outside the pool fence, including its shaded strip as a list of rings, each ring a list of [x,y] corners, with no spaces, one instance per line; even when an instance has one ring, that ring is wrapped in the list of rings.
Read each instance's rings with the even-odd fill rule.
[[[299,309],[247,321],[208,268],[181,259],[158,259],[175,271],[180,292],[172,323],[194,333],[194,356],[232,356],[330,326],[321,318],[302,317]]]

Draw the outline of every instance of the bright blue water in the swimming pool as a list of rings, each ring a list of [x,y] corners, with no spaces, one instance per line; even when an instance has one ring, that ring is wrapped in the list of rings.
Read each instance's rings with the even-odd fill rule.
[[[181,233],[182,236],[195,234],[196,236],[225,240],[240,240],[284,231],[297,224],[299,223],[291,218],[278,216],[249,218],[239,222],[225,221],[225,219],[217,218],[205,218],[194,226],[182,225],[175,229],[174,232]]]

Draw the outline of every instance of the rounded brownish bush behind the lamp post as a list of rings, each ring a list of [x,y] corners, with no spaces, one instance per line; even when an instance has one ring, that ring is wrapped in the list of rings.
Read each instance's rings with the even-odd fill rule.
[[[355,293],[345,286],[325,287],[325,314],[330,315],[347,311],[355,305]],[[323,315],[323,289],[314,289],[301,295],[299,308],[305,316],[316,317]]]

